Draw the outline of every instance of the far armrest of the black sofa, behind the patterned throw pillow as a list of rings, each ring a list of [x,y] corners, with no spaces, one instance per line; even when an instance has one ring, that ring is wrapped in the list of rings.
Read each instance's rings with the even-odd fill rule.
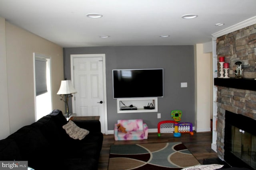
[[[90,134],[101,133],[100,121],[98,120],[72,120],[80,128],[90,131]]]

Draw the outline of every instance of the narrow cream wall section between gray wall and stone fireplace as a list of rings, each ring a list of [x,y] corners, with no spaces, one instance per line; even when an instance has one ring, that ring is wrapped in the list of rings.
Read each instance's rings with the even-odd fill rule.
[[[211,54],[203,52],[203,44],[194,46],[195,61],[195,130],[210,131]]]

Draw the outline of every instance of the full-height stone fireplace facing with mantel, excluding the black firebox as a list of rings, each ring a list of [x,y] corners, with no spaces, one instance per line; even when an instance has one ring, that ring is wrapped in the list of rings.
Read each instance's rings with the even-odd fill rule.
[[[217,86],[217,89],[214,88],[214,93],[217,92],[214,99],[217,103],[217,135],[214,133],[214,140],[216,135],[216,151],[222,160],[225,151],[225,112],[230,111],[256,120],[256,23],[251,23],[252,25],[248,25],[244,22],[244,28],[232,28],[236,31],[216,36],[217,68],[219,57],[224,57],[225,63],[229,63],[230,67],[230,78],[214,78],[214,85]],[[242,62],[242,79],[234,78],[237,61]]]

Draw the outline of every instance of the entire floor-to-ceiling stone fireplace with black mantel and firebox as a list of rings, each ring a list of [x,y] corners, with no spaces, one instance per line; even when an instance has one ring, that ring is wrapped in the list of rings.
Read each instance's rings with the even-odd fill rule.
[[[230,65],[230,78],[214,78],[218,156],[231,165],[243,162],[256,169],[256,24],[218,37],[216,55]],[[237,61],[242,62],[241,79],[234,74]]]

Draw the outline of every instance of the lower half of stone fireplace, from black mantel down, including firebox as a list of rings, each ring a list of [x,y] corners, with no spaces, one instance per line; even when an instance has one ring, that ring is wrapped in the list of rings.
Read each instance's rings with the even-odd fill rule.
[[[254,130],[256,129],[256,80],[215,78],[214,84],[218,87],[216,128],[218,156],[229,164],[233,164],[232,166],[241,165],[242,162],[248,164],[248,161],[246,162],[241,156],[234,153],[239,150],[240,154],[244,152],[251,155],[250,167],[256,169],[256,131]],[[250,85],[247,86],[247,84]],[[254,89],[251,89],[250,86]],[[239,143],[238,141],[244,140],[246,135],[242,136],[238,133],[234,136],[237,131],[241,131],[247,136],[251,135],[247,141],[241,144],[240,149],[234,146]],[[232,141],[232,139],[235,140]],[[250,147],[245,147],[249,145],[248,143],[250,143]],[[238,165],[234,163],[238,163]]]

